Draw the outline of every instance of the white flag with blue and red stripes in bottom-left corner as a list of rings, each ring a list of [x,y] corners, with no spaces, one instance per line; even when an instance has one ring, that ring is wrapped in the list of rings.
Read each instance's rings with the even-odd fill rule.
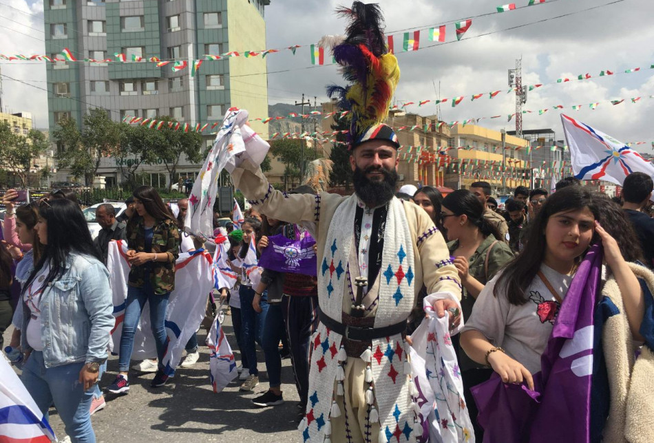
[[[0,442],[56,442],[48,419],[7,360],[0,357]]]

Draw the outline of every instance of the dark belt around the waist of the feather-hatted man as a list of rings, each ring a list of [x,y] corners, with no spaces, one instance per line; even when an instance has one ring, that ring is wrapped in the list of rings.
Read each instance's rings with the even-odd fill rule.
[[[328,327],[330,330],[341,334],[343,340],[341,344],[344,345],[348,357],[359,358],[363,351],[372,346],[372,340],[375,338],[383,338],[393,336],[395,334],[405,334],[406,321],[395,323],[394,325],[384,327],[374,327],[375,317],[354,317],[350,314],[342,313],[342,323],[334,320],[318,308],[319,321]]]

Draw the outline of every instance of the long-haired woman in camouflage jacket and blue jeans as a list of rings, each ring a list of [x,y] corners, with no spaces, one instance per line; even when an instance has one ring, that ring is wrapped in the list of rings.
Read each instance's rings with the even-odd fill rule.
[[[180,231],[168,206],[151,186],[136,188],[134,203],[136,213],[127,222],[127,261],[131,269],[123,335],[120,336],[118,376],[107,387],[113,393],[129,391],[127,371],[134,350],[134,333],[146,302],[150,307],[159,368],[151,387],[165,385],[174,374],[165,373],[162,360],[166,352],[166,310],[170,292],[175,288],[175,262],[180,255]]]

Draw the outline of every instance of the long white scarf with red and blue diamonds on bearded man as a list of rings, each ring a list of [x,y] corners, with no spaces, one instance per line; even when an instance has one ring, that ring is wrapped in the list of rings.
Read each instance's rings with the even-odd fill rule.
[[[325,252],[318,269],[318,297],[322,312],[341,323],[343,297],[350,297],[354,287],[348,279],[348,257],[355,241],[354,220],[358,199],[352,195],[337,208],[330,221]],[[379,269],[379,301],[375,327],[385,327],[406,321],[414,306],[415,257],[414,246],[403,204],[393,198],[388,206],[384,230],[381,268]],[[350,269],[357,263],[350,263]],[[370,282],[370,286],[372,287]],[[322,323],[313,337],[313,353],[309,375],[309,401],[306,418],[300,424],[304,442],[323,442],[330,437],[330,417],[341,414],[333,401],[341,389],[335,382],[343,381],[342,363],[347,359],[341,348],[340,334],[328,330]],[[379,420],[379,442],[411,442],[415,440],[416,412],[412,396],[417,395],[407,360],[408,344],[401,334],[372,341],[372,347],[361,356],[370,363],[366,382],[370,388],[366,400],[371,405],[370,420]],[[411,395],[410,395],[411,394]],[[340,394],[342,395],[342,394]],[[375,402],[377,408],[375,408]],[[375,410],[376,409],[376,410]]]

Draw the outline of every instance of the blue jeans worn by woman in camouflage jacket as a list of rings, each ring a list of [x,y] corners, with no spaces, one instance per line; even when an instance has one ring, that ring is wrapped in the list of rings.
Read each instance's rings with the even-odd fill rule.
[[[154,335],[154,341],[157,347],[157,357],[159,358],[159,370],[163,371],[162,364],[164,352],[166,349],[166,309],[168,307],[167,294],[155,294],[149,283],[145,283],[143,288],[127,287],[127,301],[125,305],[125,319],[123,320],[123,335],[120,336],[120,357],[118,358],[118,371],[127,372],[129,370],[129,360],[131,352],[134,351],[134,332],[138,326],[138,321],[143,311],[145,302],[150,305],[150,327]]]

